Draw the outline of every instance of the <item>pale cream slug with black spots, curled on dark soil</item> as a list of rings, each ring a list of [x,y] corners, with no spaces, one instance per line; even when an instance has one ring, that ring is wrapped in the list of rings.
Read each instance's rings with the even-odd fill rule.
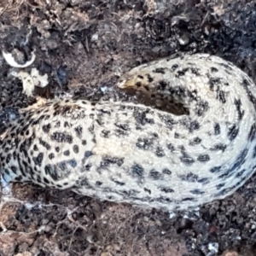
[[[222,199],[253,174],[256,89],[230,62],[166,58],[117,85],[187,112],[83,100],[21,110],[1,135],[3,178],[171,211]]]

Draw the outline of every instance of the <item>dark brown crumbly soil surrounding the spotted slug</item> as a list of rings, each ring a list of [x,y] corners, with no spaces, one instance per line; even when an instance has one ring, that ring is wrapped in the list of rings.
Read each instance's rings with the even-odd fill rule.
[[[1,113],[36,96],[134,101],[114,89],[119,75],[175,53],[222,56],[255,81],[255,47],[255,1],[2,0],[0,48],[20,63],[35,50],[25,71],[36,67],[50,83],[26,96],[1,55],[0,131]],[[1,194],[0,255],[253,256],[255,183],[176,215],[14,184]]]

